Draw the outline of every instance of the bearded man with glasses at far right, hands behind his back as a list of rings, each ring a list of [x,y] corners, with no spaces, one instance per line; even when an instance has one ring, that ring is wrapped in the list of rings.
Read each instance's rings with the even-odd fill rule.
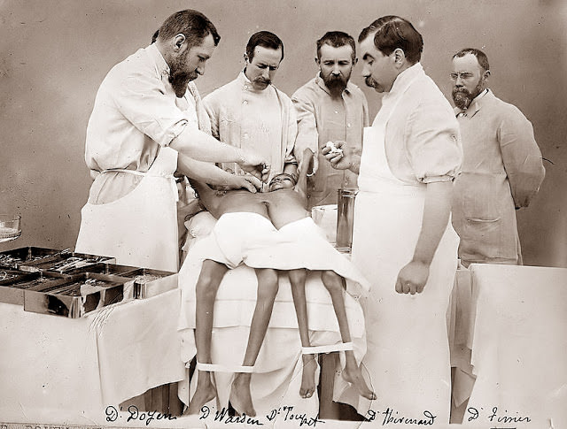
[[[489,76],[481,50],[454,55],[451,80],[463,161],[454,186],[453,226],[465,266],[522,264],[516,210],[528,206],[545,175],[532,124],[493,95]]]

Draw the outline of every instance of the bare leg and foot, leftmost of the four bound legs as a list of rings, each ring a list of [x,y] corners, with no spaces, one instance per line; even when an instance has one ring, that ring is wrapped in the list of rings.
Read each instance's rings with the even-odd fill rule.
[[[228,270],[226,265],[206,259],[203,261],[198,276],[197,286],[195,287],[197,295],[195,343],[197,345],[197,362],[200,364],[212,364],[211,335],[213,332],[214,300],[221,280]],[[211,379],[211,373],[199,370],[197,390],[184,414],[198,414],[201,407],[215,396],[216,389]]]

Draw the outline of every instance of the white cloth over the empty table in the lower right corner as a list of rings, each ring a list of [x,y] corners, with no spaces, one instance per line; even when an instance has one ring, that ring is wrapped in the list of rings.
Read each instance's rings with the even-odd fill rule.
[[[479,413],[464,423],[567,427],[567,269],[470,264],[454,299],[454,401]]]

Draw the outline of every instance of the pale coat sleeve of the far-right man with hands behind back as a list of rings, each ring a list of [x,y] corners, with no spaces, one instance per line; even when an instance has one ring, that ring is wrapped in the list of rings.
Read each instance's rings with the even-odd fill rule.
[[[532,124],[514,107],[501,121],[497,138],[516,208],[527,207],[545,176]]]

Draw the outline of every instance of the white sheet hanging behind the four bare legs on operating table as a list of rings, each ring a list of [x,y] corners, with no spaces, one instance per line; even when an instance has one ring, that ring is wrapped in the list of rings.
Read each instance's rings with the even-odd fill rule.
[[[198,214],[188,226],[190,234],[193,237],[208,234],[212,226],[211,218],[209,213]],[[191,249],[194,248],[191,247]],[[191,253],[191,249],[179,272],[179,284],[183,288],[179,328],[183,335],[183,361],[185,362],[190,362],[196,354],[194,341],[195,285],[202,262],[198,255]],[[310,399],[302,399],[299,396],[301,342],[291,298],[291,285],[287,275],[280,275],[279,285],[268,332],[252,374],[252,401],[260,417],[282,406],[293,406],[294,412],[305,412],[307,416],[315,417],[319,410],[316,395]],[[212,339],[214,364],[230,366],[242,364],[252,314],[256,305],[256,290],[256,274],[252,268],[244,265],[229,270],[222,280],[214,306]],[[340,343],[337,318],[330,295],[322,285],[319,272],[308,274],[306,295],[312,345]],[[360,304],[348,294],[346,294],[346,311],[353,337],[354,353],[360,360],[366,352],[364,318]],[[229,401],[232,374],[216,372],[214,379],[221,407],[226,407]],[[188,402],[189,393],[186,389],[181,390],[180,397],[183,402]],[[211,402],[209,405],[215,407],[214,410],[216,410],[216,403]],[[266,419],[264,423],[267,423]]]

